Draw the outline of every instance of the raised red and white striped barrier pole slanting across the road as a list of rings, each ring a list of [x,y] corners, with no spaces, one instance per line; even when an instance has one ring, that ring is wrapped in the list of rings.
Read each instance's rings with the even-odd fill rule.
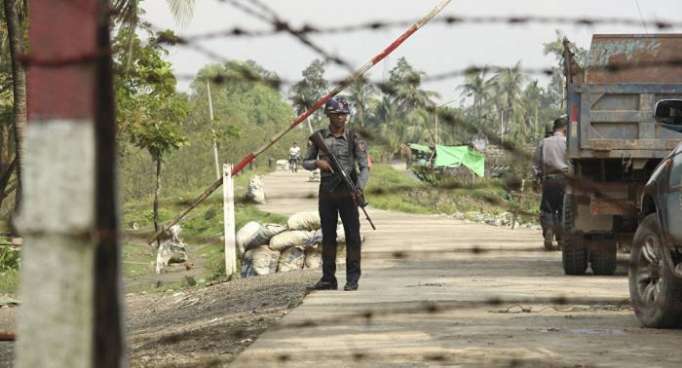
[[[266,144],[264,144],[262,147],[258,148],[256,151],[251,152],[244,156],[241,161],[237,165],[235,165],[232,168],[232,175],[236,175],[240,171],[242,171],[248,164],[253,162],[253,160],[256,159],[261,153],[265,152],[268,148],[272,147],[277,141],[279,141],[285,134],[289,133],[292,129],[294,129],[296,126],[304,122],[310,115],[312,115],[315,111],[320,109],[324,104],[327,103],[327,101],[331,100],[332,97],[336,96],[339,94],[341,91],[346,89],[351,83],[362,77],[367,71],[372,69],[372,67],[376,64],[378,64],[380,61],[384,60],[388,55],[390,55],[393,51],[395,51],[400,45],[403,44],[410,36],[412,36],[415,32],[417,32],[420,28],[424,27],[431,19],[435,18],[436,15],[438,15],[445,7],[450,4],[452,0],[443,0],[441,1],[433,10],[431,10],[428,14],[426,14],[424,17],[422,17],[420,20],[418,20],[415,24],[413,24],[410,28],[408,28],[400,37],[398,37],[395,41],[393,41],[388,47],[386,47],[384,50],[382,50],[380,53],[378,53],[376,56],[374,56],[369,62],[367,62],[365,65],[361,66],[358,68],[353,74],[348,76],[346,79],[344,79],[341,83],[339,83],[333,90],[331,90],[327,95],[324,97],[320,98],[315,102],[315,104],[308,109],[306,112],[302,113],[299,115],[292,123],[289,125],[286,129],[282,130],[272,138],[270,138],[270,141]],[[178,215],[173,221],[168,223],[167,225],[163,226],[161,230],[159,230],[156,234],[154,234],[154,237],[149,240],[149,244],[151,244],[156,238],[161,235],[161,233],[164,231],[164,229],[169,228],[170,226],[173,226],[180,222],[194,207],[196,207],[199,203],[201,203],[206,197],[208,197],[211,193],[213,193],[220,185],[222,184],[223,179],[220,178],[216,180],[202,195],[200,195],[192,205],[183,211],[180,215]]]

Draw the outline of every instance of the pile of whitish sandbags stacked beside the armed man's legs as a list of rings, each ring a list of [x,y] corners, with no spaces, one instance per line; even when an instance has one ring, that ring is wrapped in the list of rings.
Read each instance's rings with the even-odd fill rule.
[[[336,236],[337,243],[345,246],[340,220]],[[237,245],[243,254],[242,277],[320,268],[321,243],[320,216],[316,211],[291,215],[286,226],[249,222],[237,232]]]

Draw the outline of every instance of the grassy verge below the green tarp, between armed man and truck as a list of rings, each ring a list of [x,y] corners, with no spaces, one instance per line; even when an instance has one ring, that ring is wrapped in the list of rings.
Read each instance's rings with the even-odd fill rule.
[[[476,179],[464,185],[457,177],[442,179],[436,185],[424,183],[409,171],[399,171],[389,165],[372,167],[366,188],[367,199],[373,207],[417,214],[454,214],[456,212],[501,214],[525,212],[520,218],[532,222],[537,218],[539,198],[524,192],[512,196],[503,183],[496,179]]]

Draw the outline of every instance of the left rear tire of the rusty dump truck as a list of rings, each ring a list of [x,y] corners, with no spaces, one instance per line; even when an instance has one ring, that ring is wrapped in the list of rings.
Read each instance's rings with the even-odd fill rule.
[[[587,248],[583,236],[575,231],[575,213],[575,198],[571,194],[564,194],[561,263],[567,275],[584,275],[587,270]]]

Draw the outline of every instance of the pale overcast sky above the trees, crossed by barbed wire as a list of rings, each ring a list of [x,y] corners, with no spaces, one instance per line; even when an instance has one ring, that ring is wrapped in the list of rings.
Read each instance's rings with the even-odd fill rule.
[[[357,24],[375,20],[414,20],[426,14],[440,0],[262,0],[281,18],[293,25],[303,23],[320,27]],[[682,21],[681,0],[639,0],[645,19]],[[217,0],[196,0],[194,15],[184,25],[171,15],[166,0],[144,0],[145,19],[181,35],[201,34],[230,29],[267,29],[258,19],[241,13]],[[589,17],[640,18],[636,0],[455,0],[443,14],[466,15],[553,15]],[[383,78],[400,57],[427,75],[463,69],[470,65],[513,65],[521,61],[524,67],[546,67],[553,59],[544,56],[542,43],[555,38],[560,29],[570,40],[588,48],[593,33],[645,33],[636,27],[577,27],[541,25],[458,25],[447,27],[427,25],[417,32],[390,59],[377,65],[370,77]],[[648,29],[655,32],[654,29]],[[677,29],[677,32],[682,30]],[[312,39],[332,53],[338,53],[354,66],[364,64],[380,49],[403,32],[392,28],[379,32],[357,32],[332,36],[312,36]],[[220,39],[206,41],[202,46],[226,59],[251,59],[284,79],[299,79],[301,71],[319,57],[292,36],[281,34],[257,39]],[[169,60],[177,74],[192,75],[202,66],[217,62],[185,47],[170,49]],[[330,67],[327,77],[342,78],[346,73]],[[458,98],[458,80],[432,82],[425,88],[441,94],[441,101]],[[180,83],[187,88],[187,81]]]

